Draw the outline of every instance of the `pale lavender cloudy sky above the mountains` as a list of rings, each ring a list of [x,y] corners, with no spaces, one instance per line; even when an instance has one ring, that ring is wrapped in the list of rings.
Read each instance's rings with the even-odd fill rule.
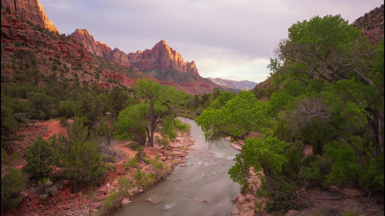
[[[96,41],[129,53],[160,40],[203,77],[261,82],[288,28],[315,15],[350,23],[383,0],[39,0],[60,33],[85,28]]]

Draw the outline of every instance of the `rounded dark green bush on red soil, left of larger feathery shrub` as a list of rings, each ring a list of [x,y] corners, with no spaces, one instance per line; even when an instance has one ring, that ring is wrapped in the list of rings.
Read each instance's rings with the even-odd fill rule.
[[[48,141],[38,136],[28,148],[27,164],[22,170],[32,177],[44,176],[52,171],[54,151]]]

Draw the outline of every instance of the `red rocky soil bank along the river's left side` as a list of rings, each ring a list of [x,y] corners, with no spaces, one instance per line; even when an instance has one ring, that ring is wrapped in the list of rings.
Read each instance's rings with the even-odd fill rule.
[[[155,133],[154,136],[159,136]],[[130,199],[138,196],[143,191],[151,187],[153,184],[162,181],[166,176],[171,173],[171,170],[177,165],[184,163],[184,156],[193,149],[189,146],[194,145],[194,141],[191,140],[191,136],[187,134],[180,134],[174,139],[174,142],[170,141],[166,149],[162,149],[163,145],[154,140],[154,147],[145,147],[144,151],[146,156],[154,159],[156,155],[159,155],[159,160],[164,163],[165,167],[169,167],[165,170],[161,179],[147,184],[146,188],[137,187],[134,176],[139,171],[151,173],[151,164],[144,162],[138,163],[137,166],[141,169],[127,167],[126,163],[130,158],[133,158],[137,151],[129,149],[129,145],[132,141],[117,141],[115,148],[121,151],[121,158],[114,163],[109,163],[109,171],[106,174],[106,178],[102,184],[95,189],[90,187],[83,187],[77,194],[72,194],[70,191],[72,181],[60,180],[55,181],[52,185],[57,188],[57,193],[54,197],[49,197],[46,200],[42,200],[39,194],[35,194],[35,187],[32,186],[22,192],[23,201],[19,208],[6,209],[2,212],[2,215],[48,215],[48,216],[74,216],[74,215],[88,215],[90,213],[97,213],[100,206],[102,206],[105,198],[115,191],[118,187],[118,179],[122,176],[132,181],[133,188],[129,191],[129,196],[123,200],[124,204],[129,204],[132,201]],[[147,144],[146,144],[147,145]],[[127,168],[127,169],[126,169]],[[60,175],[60,170],[56,173]]]

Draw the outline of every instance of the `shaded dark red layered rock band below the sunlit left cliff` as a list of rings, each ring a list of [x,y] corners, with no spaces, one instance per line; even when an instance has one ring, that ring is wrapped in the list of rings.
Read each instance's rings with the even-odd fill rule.
[[[26,42],[28,45],[36,43],[47,43],[54,50],[60,52],[64,57],[80,57],[84,60],[90,60],[90,54],[84,47],[77,42],[62,42],[54,40],[49,35],[45,35],[39,31],[22,23],[15,15],[2,12],[1,19],[1,41],[2,43]],[[47,51],[48,52],[48,51]]]

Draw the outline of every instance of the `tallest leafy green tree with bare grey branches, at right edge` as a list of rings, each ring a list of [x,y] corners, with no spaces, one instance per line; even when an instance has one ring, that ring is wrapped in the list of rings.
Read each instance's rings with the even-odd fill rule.
[[[355,181],[383,191],[383,50],[383,40],[371,44],[340,15],[293,24],[274,50],[285,62],[280,69],[293,80],[285,84],[298,81],[308,91],[295,95],[286,110],[292,128],[302,135],[326,128],[333,131],[330,139],[338,140],[324,149],[333,161],[328,179],[338,185]],[[350,161],[339,163],[341,158]],[[346,172],[337,175],[341,170]]]

